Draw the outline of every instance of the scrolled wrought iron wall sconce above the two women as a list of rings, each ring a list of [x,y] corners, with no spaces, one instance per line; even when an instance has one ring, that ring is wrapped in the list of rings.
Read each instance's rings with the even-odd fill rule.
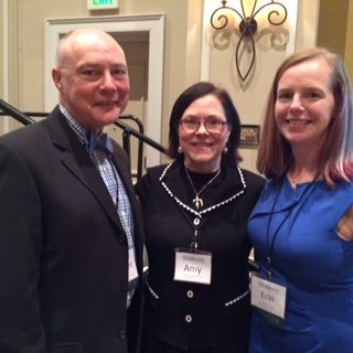
[[[215,30],[223,30],[225,28],[228,28],[229,24],[232,24],[232,20],[235,19],[232,17],[235,15],[235,18],[238,18],[238,28],[235,28],[235,31],[238,31],[240,38],[238,40],[238,43],[236,45],[235,51],[235,66],[237,69],[237,73],[243,82],[246,81],[248,75],[250,74],[256,58],[256,49],[255,49],[255,34],[258,32],[258,23],[256,21],[256,17],[260,13],[264,13],[265,10],[268,10],[267,20],[269,24],[272,25],[281,25],[285,23],[287,19],[287,9],[286,7],[280,3],[279,1],[268,1],[265,4],[261,4],[257,9],[257,0],[239,0],[240,1],[240,9],[242,12],[238,10],[227,7],[227,1],[222,0],[222,6],[216,9],[212,15],[211,15],[211,25]],[[250,11],[249,13],[246,13],[244,1],[247,1],[248,8]],[[253,3],[250,3],[253,1]],[[264,2],[264,1],[263,1]],[[234,15],[232,15],[232,13]],[[240,66],[240,53],[242,51],[247,50],[249,53],[249,64],[245,69],[243,71]]]

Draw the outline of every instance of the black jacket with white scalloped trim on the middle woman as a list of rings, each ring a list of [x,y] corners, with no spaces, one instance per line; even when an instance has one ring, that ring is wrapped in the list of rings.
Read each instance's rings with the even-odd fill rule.
[[[237,168],[224,167],[201,194],[199,214],[183,161],[164,169],[151,168],[137,185],[149,258],[143,331],[184,350],[236,341],[244,352],[250,322],[247,220],[265,181],[243,170],[244,188]],[[173,280],[174,249],[190,247],[197,224],[199,249],[212,253],[211,285]]]

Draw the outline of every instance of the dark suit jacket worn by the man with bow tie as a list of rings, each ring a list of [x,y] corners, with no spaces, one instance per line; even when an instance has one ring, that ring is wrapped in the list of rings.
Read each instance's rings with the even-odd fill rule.
[[[139,212],[124,150],[113,157]],[[0,138],[0,352],[122,353],[138,342],[140,290],[127,311],[128,244],[103,179],[56,107]],[[128,321],[128,327],[127,327]]]

